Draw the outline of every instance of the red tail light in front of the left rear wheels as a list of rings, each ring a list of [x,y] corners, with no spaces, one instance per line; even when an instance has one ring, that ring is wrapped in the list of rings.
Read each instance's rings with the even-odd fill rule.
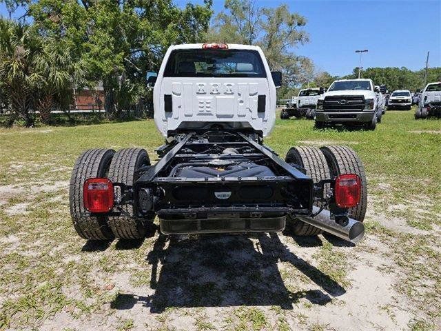
[[[108,178],[86,179],[83,186],[85,209],[90,212],[109,212],[113,208],[113,184]]]

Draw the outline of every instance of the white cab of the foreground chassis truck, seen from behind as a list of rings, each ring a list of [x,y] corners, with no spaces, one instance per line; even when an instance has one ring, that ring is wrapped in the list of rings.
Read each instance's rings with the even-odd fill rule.
[[[276,120],[275,81],[281,74],[258,46],[170,46],[154,85],[154,121],[165,137],[213,126],[265,137]]]

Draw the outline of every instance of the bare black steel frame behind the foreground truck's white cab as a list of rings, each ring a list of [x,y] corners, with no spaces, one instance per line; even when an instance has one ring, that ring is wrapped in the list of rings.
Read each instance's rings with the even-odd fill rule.
[[[218,137],[212,141],[212,135]],[[220,137],[220,138],[219,138]],[[222,139],[222,137],[224,139]],[[216,152],[201,153],[193,150],[209,148],[243,148],[239,154],[221,154]],[[309,215],[312,211],[317,188],[310,177],[293,165],[280,159],[278,155],[263,145],[260,137],[242,132],[188,132],[179,134],[165,146],[158,148],[163,157],[152,166],[139,170],[139,179],[133,186],[114,183],[121,188],[123,199],[115,201],[114,211],[108,215],[123,214],[120,206],[134,205],[136,217],[151,217],[155,212],[161,219],[209,219],[228,217],[235,214],[240,218],[283,217],[288,213]],[[253,161],[267,165],[276,176],[271,177],[169,177],[170,170],[177,164],[186,162],[209,162],[213,159]],[[254,188],[271,192],[267,197],[247,197],[243,192],[252,192]],[[176,197],[180,190],[201,192],[200,199]],[[154,194],[153,210],[146,212],[141,208],[141,192],[148,190]],[[232,192],[226,200],[218,200],[213,191]],[[182,196],[183,194],[181,194]],[[214,216],[213,216],[214,215]]]

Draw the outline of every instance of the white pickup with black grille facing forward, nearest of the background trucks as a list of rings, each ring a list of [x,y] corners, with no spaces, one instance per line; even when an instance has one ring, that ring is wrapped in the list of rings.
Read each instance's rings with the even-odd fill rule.
[[[362,125],[375,130],[382,110],[371,79],[334,81],[318,99],[316,128],[328,124]]]

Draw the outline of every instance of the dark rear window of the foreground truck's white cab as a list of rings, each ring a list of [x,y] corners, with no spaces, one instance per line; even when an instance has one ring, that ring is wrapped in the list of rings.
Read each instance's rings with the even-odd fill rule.
[[[174,50],[164,77],[267,77],[256,50]]]

